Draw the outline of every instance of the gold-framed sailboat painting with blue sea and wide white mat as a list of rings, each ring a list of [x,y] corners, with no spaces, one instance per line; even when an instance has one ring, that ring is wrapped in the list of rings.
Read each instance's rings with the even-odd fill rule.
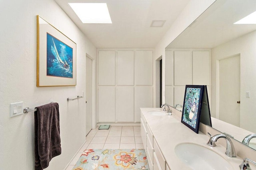
[[[36,86],[76,85],[76,43],[37,16]]]

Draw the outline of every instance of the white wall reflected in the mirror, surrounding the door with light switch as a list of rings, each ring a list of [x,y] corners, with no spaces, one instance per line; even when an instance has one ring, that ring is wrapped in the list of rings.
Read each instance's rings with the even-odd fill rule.
[[[256,133],[256,31],[212,49],[212,106],[216,113],[216,61],[240,54],[240,127]],[[246,98],[250,92],[250,98]],[[248,119],[248,117],[250,117]]]

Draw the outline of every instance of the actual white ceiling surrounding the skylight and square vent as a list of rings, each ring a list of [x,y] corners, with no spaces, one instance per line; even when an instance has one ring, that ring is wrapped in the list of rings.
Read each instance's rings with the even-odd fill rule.
[[[190,0],[55,0],[96,48],[154,48]],[[112,24],[82,23],[68,3],[107,3]],[[166,20],[150,27],[152,20]]]

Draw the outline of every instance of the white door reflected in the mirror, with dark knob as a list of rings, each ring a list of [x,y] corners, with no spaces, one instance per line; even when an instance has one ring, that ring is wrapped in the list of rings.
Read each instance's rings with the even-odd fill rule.
[[[219,119],[240,127],[240,55],[220,60]]]

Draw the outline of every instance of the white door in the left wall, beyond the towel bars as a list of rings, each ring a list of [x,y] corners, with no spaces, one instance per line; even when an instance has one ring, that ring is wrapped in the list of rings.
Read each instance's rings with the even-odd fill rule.
[[[86,135],[92,130],[92,60],[86,57]]]

